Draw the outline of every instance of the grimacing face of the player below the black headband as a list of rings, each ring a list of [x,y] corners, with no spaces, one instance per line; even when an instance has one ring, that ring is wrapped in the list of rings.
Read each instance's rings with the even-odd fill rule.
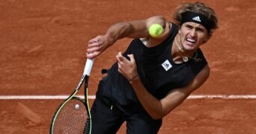
[[[186,51],[196,50],[209,39],[207,29],[195,22],[185,22],[180,28],[180,41]]]

